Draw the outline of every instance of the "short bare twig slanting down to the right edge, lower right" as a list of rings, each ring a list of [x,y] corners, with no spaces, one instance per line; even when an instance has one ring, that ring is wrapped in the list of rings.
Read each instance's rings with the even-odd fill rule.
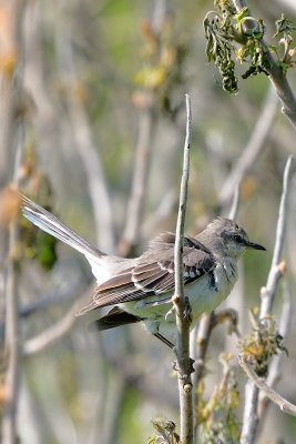
[[[254,370],[252,369],[251,364],[247,362],[247,356],[239,355],[238,356],[239,364],[248,377],[254,382],[254,384],[259,389],[263,390],[266,396],[269,397],[283,412],[289,413],[293,416],[296,416],[296,405],[292,404],[283,396],[280,396],[276,391],[274,391],[263,377],[259,377]]]

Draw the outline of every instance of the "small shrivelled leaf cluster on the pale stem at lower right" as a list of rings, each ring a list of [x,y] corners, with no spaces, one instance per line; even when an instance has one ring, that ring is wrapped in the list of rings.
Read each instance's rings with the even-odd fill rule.
[[[283,336],[277,331],[276,322],[272,316],[259,319],[258,309],[249,311],[252,334],[239,341],[238,346],[244,354],[251,357],[251,363],[258,376],[265,377],[268,363],[273,355],[287,350],[283,345]]]

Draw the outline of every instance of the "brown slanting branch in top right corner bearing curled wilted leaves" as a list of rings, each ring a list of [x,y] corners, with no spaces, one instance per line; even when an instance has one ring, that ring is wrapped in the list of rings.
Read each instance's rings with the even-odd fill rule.
[[[241,11],[242,8],[247,7],[247,2],[245,0],[233,0],[233,3],[237,11]],[[245,21],[243,28],[253,28],[253,22],[254,20]],[[266,71],[268,72],[268,78],[273,83],[274,89],[276,90],[276,93],[282,102],[282,111],[288,118],[294,128],[296,128],[296,98],[288,83],[287,75],[279,67],[279,64],[277,64],[277,62],[274,60],[267,43],[263,39],[262,44],[271,65],[271,68],[266,68]]]

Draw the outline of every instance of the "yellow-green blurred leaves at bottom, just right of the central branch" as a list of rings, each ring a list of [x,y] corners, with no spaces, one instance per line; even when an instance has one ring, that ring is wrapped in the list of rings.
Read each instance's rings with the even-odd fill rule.
[[[196,422],[202,425],[203,442],[207,444],[235,444],[239,441],[241,423],[235,413],[239,393],[236,367],[229,365],[232,357],[226,353],[221,354],[224,369],[222,382],[208,402],[202,400],[203,381],[197,389]]]

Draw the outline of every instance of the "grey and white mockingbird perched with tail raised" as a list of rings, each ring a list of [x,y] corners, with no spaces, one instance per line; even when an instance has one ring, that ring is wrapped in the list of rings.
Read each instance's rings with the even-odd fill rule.
[[[28,198],[23,198],[22,212],[89,261],[98,287],[93,300],[78,315],[113,305],[94,322],[98,330],[143,322],[150,333],[173,346],[166,336],[176,332],[175,317],[166,314],[174,293],[174,233],[157,235],[141,256],[124,259],[96,249]],[[265,250],[226,218],[215,219],[196,236],[184,236],[184,286],[193,325],[203,312],[212,312],[231,293],[237,281],[236,262],[246,249]]]

